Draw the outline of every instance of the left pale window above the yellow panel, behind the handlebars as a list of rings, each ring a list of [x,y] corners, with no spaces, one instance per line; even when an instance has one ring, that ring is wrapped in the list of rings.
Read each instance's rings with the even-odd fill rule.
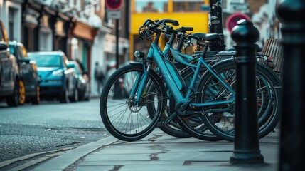
[[[167,0],[155,0],[155,1],[147,1],[147,0],[134,0],[135,11],[137,13],[145,13],[145,12],[155,12],[162,13],[167,12],[168,2]]]

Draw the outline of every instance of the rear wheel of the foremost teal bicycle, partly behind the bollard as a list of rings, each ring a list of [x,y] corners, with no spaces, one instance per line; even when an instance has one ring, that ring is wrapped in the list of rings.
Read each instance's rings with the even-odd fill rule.
[[[223,61],[214,66],[215,71],[217,71],[220,76],[230,76],[234,78],[236,66],[233,60]],[[279,90],[275,87],[280,87],[281,83],[277,75],[271,71],[267,66],[262,63],[257,63],[257,104],[258,104],[258,124],[259,124],[259,138],[263,138],[269,134],[276,127],[279,122]],[[226,81],[230,81],[232,88],[234,89],[234,81],[230,78],[225,77]],[[198,90],[201,96],[198,97],[200,103],[205,103],[210,99],[211,92],[217,92],[216,88],[218,85],[215,84],[215,76],[211,73],[205,73],[203,78],[201,78]],[[213,85],[213,88],[211,87]],[[215,88],[216,87],[216,88]],[[213,90],[211,90],[213,89]],[[217,92],[219,93],[219,92]],[[213,95],[215,97],[215,95]],[[229,98],[229,97],[223,97]],[[261,99],[260,99],[261,98]],[[232,104],[234,105],[234,104]],[[234,105],[235,106],[235,105]],[[220,106],[224,108],[227,106]],[[211,107],[212,108],[212,107]],[[211,108],[204,108],[204,110],[209,110]],[[235,110],[228,110],[221,115],[221,120],[218,123],[213,122],[210,118],[211,113],[205,114],[203,117],[203,123],[208,127],[208,129],[224,140],[234,142],[235,140]]]

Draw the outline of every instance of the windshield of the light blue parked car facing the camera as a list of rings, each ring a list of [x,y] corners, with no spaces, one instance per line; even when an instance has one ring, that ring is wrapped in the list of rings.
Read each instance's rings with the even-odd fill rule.
[[[30,56],[28,57],[34,61],[38,67],[58,67],[63,66],[60,59],[61,56],[50,56],[50,55],[37,55],[37,56]]]

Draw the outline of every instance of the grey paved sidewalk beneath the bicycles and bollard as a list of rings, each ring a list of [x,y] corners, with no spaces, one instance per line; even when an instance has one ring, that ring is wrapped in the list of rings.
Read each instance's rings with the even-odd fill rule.
[[[146,138],[124,142],[112,136],[53,158],[33,170],[200,170],[275,171],[279,129],[259,140],[264,164],[230,165],[234,143],[174,138],[156,128]]]

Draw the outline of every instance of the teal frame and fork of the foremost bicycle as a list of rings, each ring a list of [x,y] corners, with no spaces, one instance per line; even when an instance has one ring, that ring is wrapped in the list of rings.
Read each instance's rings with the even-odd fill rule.
[[[191,63],[183,63],[183,64],[186,64],[186,66],[191,66],[195,70],[194,76],[191,80],[191,84],[188,86],[186,95],[184,96],[181,93],[180,88],[178,88],[178,86],[177,86],[177,84],[179,85],[179,83],[177,83],[178,82],[177,78],[181,78],[181,76],[178,74],[178,72],[175,71],[176,68],[168,67],[168,65],[166,65],[166,61],[164,60],[164,56],[166,56],[166,54],[168,54],[168,51],[170,51],[170,49],[173,47],[169,43],[166,43],[166,47],[164,48],[164,51],[162,52],[158,46],[159,36],[160,36],[160,33],[157,33],[154,42],[151,43],[151,47],[149,48],[149,53],[146,57],[146,61],[155,61],[156,62],[156,66],[159,68],[162,78],[164,78],[164,81],[165,81],[166,85],[168,86],[168,89],[173,94],[173,97],[175,98],[177,103],[187,103],[188,101],[191,100],[191,98],[192,98],[191,95],[193,93],[192,91],[193,91],[194,86],[196,85],[196,80],[197,80],[198,76],[200,76],[199,75],[200,68],[202,66],[205,66],[205,68],[207,68],[207,70],[208,70],[206,72],[212,73],[218,79],[218,81],[220,81],[220,83],[222,83],[223,86],[225,86],[225,88],[230,90],[230,92],[232,93],[232,96],[228,100],[206,102],[206,103],[189,103],[189,105],[191,107],[200,108],[200,107],[211,106],[211,105],[223,105],[223,104],[233,103],[235,101],[235,91],[232,90],[232,88],[228,85],[228,83],[226,83],[223,80],[223,78],[221,76],[219,76],[219,74],[213,68],[211,68],[210,65],[203,58],[204,57],[203,55],[204,55],[205,51],[207,51],[208,46],[205,46],[205,48],[203,49],[203,55],[200,56],[200,58],[198,58],[198,63],[196,65],[191,64]],[[132,92],[130,94],[131,97],[136,95],[136,99],[134,100],[134,102],[136,104],[139,104],[142,93],[144,92],[144,88],[147,84],[149,70],[151,70],[151,63],[149,63],[147,66],[145,66],[145,63],[143,63],[143,64],[144,64],[143,65],[144,74],[137,76],[134,87],[132,88]],[[176,78],[176,80],[174,78]],[[129,97],[129,98],[131,98],[131,97]]]

